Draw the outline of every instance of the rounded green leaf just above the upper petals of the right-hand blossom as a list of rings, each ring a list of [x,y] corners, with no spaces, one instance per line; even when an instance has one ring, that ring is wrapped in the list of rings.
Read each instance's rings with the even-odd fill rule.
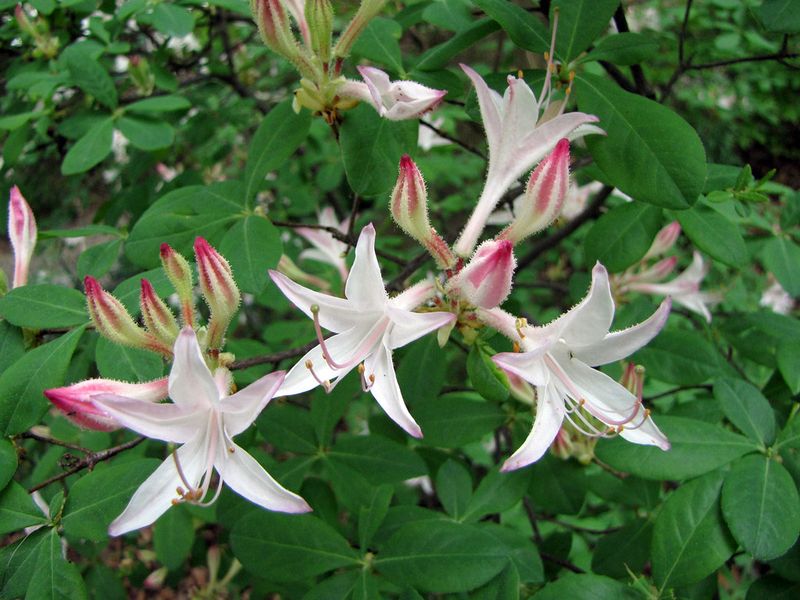
[[[643,202],[612,208],[589,230],[586,258],[600,261],[612,273],[624,271],[641,259],[658,233],[661,209]]]

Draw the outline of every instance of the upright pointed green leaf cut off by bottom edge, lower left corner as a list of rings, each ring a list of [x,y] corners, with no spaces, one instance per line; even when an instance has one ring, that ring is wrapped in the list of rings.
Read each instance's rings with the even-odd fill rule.
[[[86,585],[78,568],[63,556],[61,538],[51,529],[36,560],[36,577],[31,579],[25,600],[83,600]]]

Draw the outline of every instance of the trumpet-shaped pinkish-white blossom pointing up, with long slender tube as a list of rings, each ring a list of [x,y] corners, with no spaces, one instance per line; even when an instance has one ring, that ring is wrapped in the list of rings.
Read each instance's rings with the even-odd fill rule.
[[[574,140],[590,133],[603,133],[591,125],[594,115],[564,113],[565,102],[550,104],[551,69],[548,63],[544,86],[537,100],[524,79],[508,77],[508,88],[500,96],[467,65],[463,71],[475,86],[481,119],[489,143],[489,170],[481,197],[455,244],[460,256],[469,256],[492,214],[508,188],[542,160],[562,139]]]

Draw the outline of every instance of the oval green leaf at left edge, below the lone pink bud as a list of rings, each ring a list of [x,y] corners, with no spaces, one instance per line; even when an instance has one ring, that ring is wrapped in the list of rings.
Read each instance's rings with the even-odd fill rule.
[[[0,316],[17,327],[50,329],[89,321],[86,298],[59,285],[24,285],[0,298]]]

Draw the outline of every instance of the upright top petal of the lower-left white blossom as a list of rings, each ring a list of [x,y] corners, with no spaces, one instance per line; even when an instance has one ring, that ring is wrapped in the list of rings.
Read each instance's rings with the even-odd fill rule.
[[[219,392],[190,327],[184,327],[178,334],[174,354],[169,372],[169,397],[181,406],[210,407],[219,398]]]

